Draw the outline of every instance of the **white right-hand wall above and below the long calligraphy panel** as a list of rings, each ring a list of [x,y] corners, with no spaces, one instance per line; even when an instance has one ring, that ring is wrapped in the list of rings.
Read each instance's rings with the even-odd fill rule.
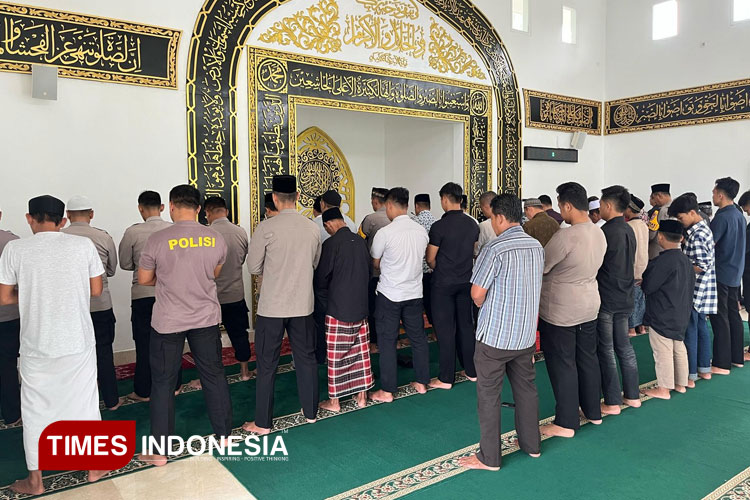
[[[679,34],[651,40],[652,0],[607,2],[607,99],[750,77],[750,22],[731,24],[731,0],[681,0]],[[604,183],[648,197],[672,182],[672,193],[711,199],[718,177],[750,189],[750,121],[607,137]]]

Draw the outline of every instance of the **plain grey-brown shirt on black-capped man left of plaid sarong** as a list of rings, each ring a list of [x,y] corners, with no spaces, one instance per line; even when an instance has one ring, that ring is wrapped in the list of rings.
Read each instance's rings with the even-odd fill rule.
[[[247,267],[263,275],[258,315],[296,318],[313,312],[313,274],[320,259],[320,231],[307,217],[284,209],[258,224]]]

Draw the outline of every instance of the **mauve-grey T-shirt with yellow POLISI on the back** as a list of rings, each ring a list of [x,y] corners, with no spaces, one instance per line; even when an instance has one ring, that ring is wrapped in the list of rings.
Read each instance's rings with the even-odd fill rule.
[[[224,238],[194,221],[179,221],[149,237],[138,266],[156,271],[151,327],[178,333],[221,322],[214,270],[227,258]]]

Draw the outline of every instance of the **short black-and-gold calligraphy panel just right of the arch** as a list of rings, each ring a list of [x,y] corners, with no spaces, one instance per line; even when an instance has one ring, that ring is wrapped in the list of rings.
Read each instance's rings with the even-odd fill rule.
[[[523,90],[526,126],[601,135],[602,103],[536,90]]]

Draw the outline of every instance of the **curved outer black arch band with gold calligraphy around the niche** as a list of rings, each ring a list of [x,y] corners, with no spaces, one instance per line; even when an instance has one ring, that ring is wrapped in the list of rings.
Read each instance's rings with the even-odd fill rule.
[[[206,0],[190,41],[187,71],[190,182],[205,195],[224,196],[239,213],[237,71],[253,28],[290,0]],[[485,63],[498,106],[497,188],[518,193],[521,175],[520,94],[502,40],[469,0],[418,0],[460,33]],[[252,139],[251,139],[252,140]]]

